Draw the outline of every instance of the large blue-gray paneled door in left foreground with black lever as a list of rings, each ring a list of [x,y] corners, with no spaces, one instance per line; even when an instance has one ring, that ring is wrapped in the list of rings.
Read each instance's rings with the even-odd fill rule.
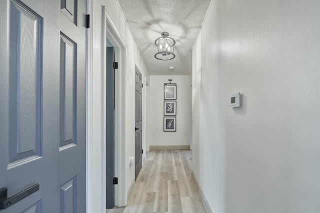
[[[85,0],[0,1],[0,212],[85,212]]]

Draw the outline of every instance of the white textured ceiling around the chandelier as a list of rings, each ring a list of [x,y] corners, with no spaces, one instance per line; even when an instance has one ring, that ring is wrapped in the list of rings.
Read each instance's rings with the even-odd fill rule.
[[[150,74],[190,74],[191,47],[211,0],[118,0]],[[175,58],[154,58],[162,31],[174,38]],[[169,71],[174,66],[174,72]]]

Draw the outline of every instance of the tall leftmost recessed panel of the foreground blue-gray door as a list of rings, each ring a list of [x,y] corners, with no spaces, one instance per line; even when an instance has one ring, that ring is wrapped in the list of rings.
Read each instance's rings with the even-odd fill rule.
[[[23,4],[10,1],[9,164],[40,156],[40,85],[42,18]]]

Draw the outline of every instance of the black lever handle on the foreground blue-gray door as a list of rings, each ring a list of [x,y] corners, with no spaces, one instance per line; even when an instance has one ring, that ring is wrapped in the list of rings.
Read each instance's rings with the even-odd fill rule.
[[[14,194],[7,198],[7,188],[0,188],[0,209],[5,209],[14,203],[17,203],[21,199],[29,196],[30,194],[34,193],[35,191],[39,190],[39,184],[34,184],[19,193]]]

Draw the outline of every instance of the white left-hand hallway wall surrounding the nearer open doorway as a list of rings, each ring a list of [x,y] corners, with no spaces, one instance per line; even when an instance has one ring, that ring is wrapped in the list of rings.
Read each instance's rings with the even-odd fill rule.
[[[135,66],[138,67],[143,77],[148,79],[148,71],[136,46],[136,43],[132,37],[132,34],[128,28],[126,20],[121,12],[121,9],[116,0],[93,0],[93,13],[92,22],[93,25],[93,52],[92,52],[92,141],[88,141],[91,144],[92,150],[89,154],[90,161],[92,161],[93,167],[91,171],[93,176],[89,182],[89,194],[88,194],[88,209],[90,212],[104,212],[105,200],[104,187],[103,187],[103,175],[105,172],[105,166],[103,161],[103,148],[104,141],[102,140],[102,5],[105,6],[106,12],[110,17],[110,21],[115,27],[117,33],[120,35],[121,40],[125,44],[126,58],[125,67],[121,70],[125,73],[125,85],[122,85],[125,94],[125,100],[122,102],[122,107],[125,107],[125,191],[127,193],[129,186],[134,181],[134,166],[129,166],[129,157],[134,156],[134,71]],[[120,180],[119,180],[120,181]],[[126,194],[125,194],[126,196]],[[125,197],[126,199],[126,197]],[[126,203],[124,203],[126,204]]]

